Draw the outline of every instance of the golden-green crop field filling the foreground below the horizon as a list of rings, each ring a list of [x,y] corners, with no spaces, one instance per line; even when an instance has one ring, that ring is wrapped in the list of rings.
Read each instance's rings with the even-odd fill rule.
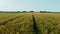
[[[0,13],[0,34],[60,34],[60,14]]]

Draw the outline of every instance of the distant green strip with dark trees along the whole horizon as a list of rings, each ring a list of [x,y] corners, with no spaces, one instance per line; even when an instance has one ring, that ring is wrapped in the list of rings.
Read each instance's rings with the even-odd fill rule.
[[[37,11],[0,11],[0,13],[35,13]],[[60,13],[52,11],[38,11],[38,13]]]

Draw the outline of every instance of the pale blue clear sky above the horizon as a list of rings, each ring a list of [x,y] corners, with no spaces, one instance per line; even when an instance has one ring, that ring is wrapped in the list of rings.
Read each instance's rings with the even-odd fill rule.
[[[0,11],[60,11],[60,0],[0,0]]]

